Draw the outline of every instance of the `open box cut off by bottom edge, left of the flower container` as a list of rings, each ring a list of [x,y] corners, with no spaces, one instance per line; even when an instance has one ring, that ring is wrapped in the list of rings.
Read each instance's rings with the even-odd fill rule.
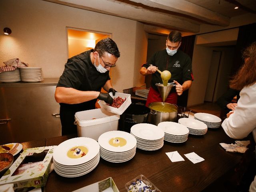
[[[108,191],[112,190],[113,192],[119,192],[112,177],[109,177],[100,182],[96,182],[94,184],[85,186],[73,192],[104,192],[104,190],[108,190]]]

